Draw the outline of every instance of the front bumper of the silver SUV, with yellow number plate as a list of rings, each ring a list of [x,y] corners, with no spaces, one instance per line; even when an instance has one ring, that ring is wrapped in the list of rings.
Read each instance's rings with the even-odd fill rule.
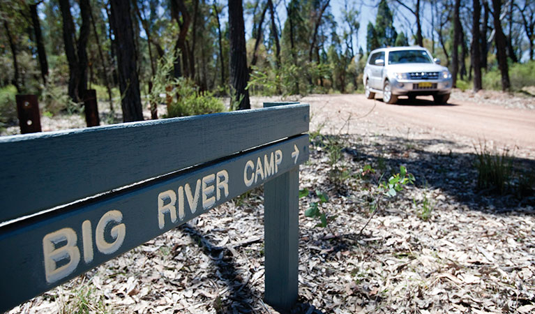
[[[452,80],[398,80],[391,78],[393,95],[443,95],[450,94]],[[423,84],[422,84],[423,83]]]

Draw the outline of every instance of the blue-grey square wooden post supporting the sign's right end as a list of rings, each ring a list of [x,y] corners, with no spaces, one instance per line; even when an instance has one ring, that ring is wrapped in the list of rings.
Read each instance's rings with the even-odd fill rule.
[[[264,184],[264,259],[264,300],[287,312],[299,287],[299,166]]]

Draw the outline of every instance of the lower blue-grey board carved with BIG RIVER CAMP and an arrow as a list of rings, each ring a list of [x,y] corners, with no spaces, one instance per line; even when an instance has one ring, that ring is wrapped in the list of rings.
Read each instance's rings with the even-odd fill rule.
[[[0,311],[50,290],[308,160],[297,135],[0,227]]]

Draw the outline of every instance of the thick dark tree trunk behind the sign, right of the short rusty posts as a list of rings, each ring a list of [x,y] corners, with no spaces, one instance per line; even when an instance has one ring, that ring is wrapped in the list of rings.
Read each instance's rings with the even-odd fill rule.
[[[119,89],[123,121],[142,121],[140,82],[137,77],[137,55],[134,43],[130,0],[111,0],[111,24],[117,47]]]

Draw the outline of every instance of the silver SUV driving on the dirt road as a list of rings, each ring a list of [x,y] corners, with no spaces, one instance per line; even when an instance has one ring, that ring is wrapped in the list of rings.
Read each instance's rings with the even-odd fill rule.
[[[451,93],[451,74],[439,59],[422,47],[389,47],[373,50],[364,68],[366,98],[383,94],[385,103],[395,103],[398,96],[432,95],[444,104]]]

